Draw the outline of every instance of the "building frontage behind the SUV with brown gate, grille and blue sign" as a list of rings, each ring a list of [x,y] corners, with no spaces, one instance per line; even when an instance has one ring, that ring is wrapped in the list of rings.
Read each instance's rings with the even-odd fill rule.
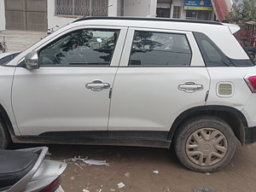
[[[84,15],[222,21],[232,3],[232,0],[0,0],[0,30],[46,32]]]

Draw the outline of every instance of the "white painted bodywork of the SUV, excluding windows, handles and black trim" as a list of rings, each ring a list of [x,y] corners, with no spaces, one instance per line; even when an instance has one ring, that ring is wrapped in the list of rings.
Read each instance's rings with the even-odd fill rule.
[[[67,32],[86,28],[121,30],[111,67],[40,67],[36,70],[17,67],[31,51],[42,49]],[[127,67],[135,30],[185,34],[192,50],[191,67]],[[247,73],[256,74],[255,67],[205,67],[192,34],[206,33],[225,55],[248,60],[231,34],[236,30],[236,26],[177,21],[98,19],[74,22],[32,45],[7,64],[9,86],[4,89],[9,97],[4,96],[8,101],[3,102],[12,106],[4,104],[4,107],[13,126],[19,127],[20,131],[15,128],[17,135],[39,135],[45,131],[169,131],[180,113],[205,105],[236,108],[245,114],[248,125],[256,125],[247,113],[254,109],[244,108],[252,93],[243,80]],[[111,99],[109,90],[93,92],[85,88],[85,84],[96,79],[111,84]],[[234,84],[234,96],[218,96],[216,85],[220,81]],[[202,84],[203,90],[194,93],[178,90],[179,84],[185,82]]]

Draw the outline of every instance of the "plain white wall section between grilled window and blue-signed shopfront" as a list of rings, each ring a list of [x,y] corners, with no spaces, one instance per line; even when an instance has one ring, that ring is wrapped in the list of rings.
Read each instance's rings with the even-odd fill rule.
[[[152,16],[156,14],[157,0],[125,0],[124,16]]]

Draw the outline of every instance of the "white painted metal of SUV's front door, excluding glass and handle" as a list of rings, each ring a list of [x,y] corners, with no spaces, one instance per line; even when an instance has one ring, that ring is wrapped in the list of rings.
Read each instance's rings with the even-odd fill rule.
[[[49,131],[108,131],[109,91],[119,64],[126,28],[86,26],[67,32],[87,28],[120,30],[110,66],[42,66],[36,70],[17,67],[12,102],[21,135]],[[44,46],[42,44],[38,49]],[[100,91],[86,87],[86,84],[99,80],[110,87]]]

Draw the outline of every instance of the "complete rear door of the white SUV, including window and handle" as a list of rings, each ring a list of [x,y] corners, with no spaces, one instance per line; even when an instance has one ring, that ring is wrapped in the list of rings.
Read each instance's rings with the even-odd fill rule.
[[[129,28],[113,84],[112,137],[166,141],[173,121],[204,106],[210,78],[192,32]]]

